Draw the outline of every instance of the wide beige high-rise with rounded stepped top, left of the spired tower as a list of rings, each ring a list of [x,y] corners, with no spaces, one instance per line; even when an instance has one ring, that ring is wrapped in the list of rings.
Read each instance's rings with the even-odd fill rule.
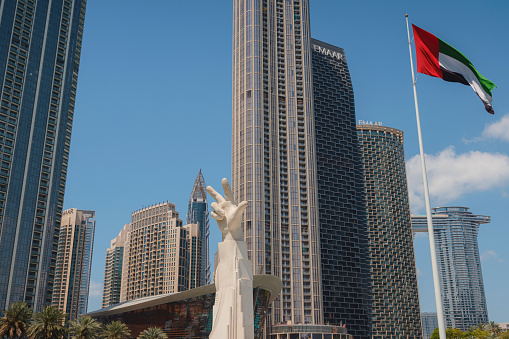
[[[169,202],[131,215],[124,246],[120,301],[189,288],[187,232]]]

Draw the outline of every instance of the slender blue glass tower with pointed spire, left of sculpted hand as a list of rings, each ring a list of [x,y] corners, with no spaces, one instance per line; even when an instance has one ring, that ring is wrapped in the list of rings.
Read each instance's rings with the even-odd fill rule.
[[[187,209],[187,224],[198,224],[200,231],[200,275],[198,284],[194,287],[204,286],[210,283],[210,260],[209,260],[209,207],[207,204],[207,192],[205,191],[205,179],[200,172],[194,181],[193,191],[189,198]],[[192,283],[195,285],[195,283]],[[192,287],[192,288],[194,288]]]

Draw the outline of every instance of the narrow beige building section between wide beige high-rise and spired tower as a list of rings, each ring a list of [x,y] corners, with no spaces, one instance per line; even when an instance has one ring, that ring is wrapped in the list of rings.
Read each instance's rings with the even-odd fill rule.
[[[187,255],[189,263],[189,289],[200,287],[201,285],[201,234],[199,224],[187,224],[182,226],[186,230]]]

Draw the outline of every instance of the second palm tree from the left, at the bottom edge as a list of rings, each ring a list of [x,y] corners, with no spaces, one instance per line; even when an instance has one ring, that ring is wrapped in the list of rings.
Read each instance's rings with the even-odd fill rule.
[[[48,305],[42,312],[34,315],[32,325],[28,328],[29,339],[63,339],[67,329],[65,317],[67,314]]]

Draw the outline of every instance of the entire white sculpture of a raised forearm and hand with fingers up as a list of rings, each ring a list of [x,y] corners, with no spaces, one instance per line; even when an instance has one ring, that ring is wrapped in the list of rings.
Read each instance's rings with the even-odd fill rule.
[[[240,225],[247,201],[236,205],[227,179],[222,180],[224,198],[212,187],[207,192],[216,200],[212,218],[223,234],[218,244],[214,271],[216,301],[210,339],[253,339],[253,267]]]

